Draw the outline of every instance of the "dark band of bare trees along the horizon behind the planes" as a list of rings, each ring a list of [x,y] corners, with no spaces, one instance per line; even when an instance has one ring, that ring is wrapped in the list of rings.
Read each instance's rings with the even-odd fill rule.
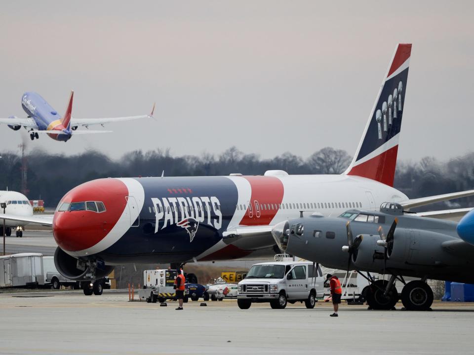
[[[118,160],[94,150],[70,156],[35,150],[26,158],[28,197],[44,200],[46,207],[56,207],[70,189],[96,178],[160,176],[163,171],[165,176],[262,175],[266,170],[284,170],[288,174],[340,174],[352,160],[345,150],[331,147],[320,149],[307,159],[290,152],[262,159],[236,147],[221,154],[200,156],[172,156],[169,149],[134,150]],[[18,154],[1,154],[0,189],[20,191],[21,166],[22,158]],[[417,162],[398,161],[394,186],[410,198],[473,189],[474,153],[446,162],[434,157]],[[431,205],[428,209],[469,207],[473,202],[473,198],[464,198]]]

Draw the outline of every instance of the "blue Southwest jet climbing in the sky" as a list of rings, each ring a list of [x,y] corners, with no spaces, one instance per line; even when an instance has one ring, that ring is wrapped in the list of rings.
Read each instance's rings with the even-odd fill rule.
[[[108,118],[74,118],[71,116],[73,108],[74,92],[71,91],[71,97],[66,109],[66,113],[61,117],[58,112],[51,107],[39,94],[35,92],[26,92],[21,98],[21,106],[26,112],[27,117],[21,118],[10,116],[8,118],[0,118],[0,123],[5,123],[14,131],[18,131],[22,126],[30,132],[31,140],[39,138],[39,134],[47,134],[56,141],[67,142],[73,135],[91,134],[91,133],[110,133],[112,131],[92,131],[79,130],[79,126],[89,128],[91,125],[104,125],[105,123],[129,121],[139,118],[153,117],[152,112],[148,115],[127,116],[127,117],[108,117]]]

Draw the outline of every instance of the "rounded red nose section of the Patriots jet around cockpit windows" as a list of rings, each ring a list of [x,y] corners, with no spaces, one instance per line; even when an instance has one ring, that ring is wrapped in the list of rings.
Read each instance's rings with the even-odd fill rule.
[[[58,246],[67,251],[88,249],[99,243],[116,225],[126,207],[128,189],[114,178],[85,182],[71,191],[62,202],[100,201],[105,212],[65,211],[54,213],[53,235]]]

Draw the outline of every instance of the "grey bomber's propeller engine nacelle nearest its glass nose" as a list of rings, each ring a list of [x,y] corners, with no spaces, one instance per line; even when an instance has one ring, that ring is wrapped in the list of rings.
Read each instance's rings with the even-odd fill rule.
[[[377,235],[364,234],[362,243],[352,254],[352,262],[357,269],[379,270],[384,267],[384,248],[377,245]]]

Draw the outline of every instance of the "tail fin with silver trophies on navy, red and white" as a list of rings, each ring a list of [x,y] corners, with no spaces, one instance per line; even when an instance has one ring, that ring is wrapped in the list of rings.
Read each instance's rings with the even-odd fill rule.
[[[411,44],[396,46],[356,155],[344,174],[393,186],[410,54]]]

